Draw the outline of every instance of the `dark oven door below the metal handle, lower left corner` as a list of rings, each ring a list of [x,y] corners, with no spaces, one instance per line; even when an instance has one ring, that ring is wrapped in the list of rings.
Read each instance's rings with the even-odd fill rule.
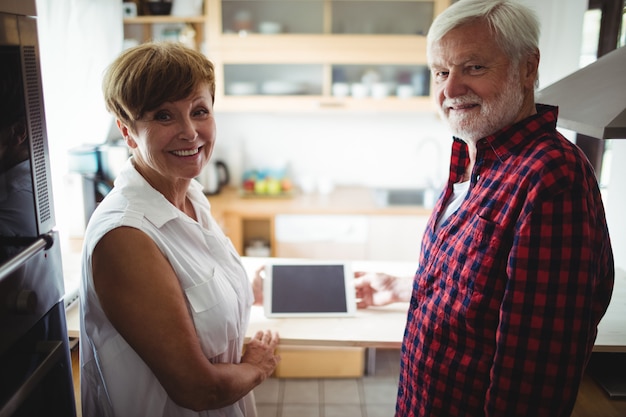
[[[46,415],[76,415],[56,232],[0,267],[0,417]]]

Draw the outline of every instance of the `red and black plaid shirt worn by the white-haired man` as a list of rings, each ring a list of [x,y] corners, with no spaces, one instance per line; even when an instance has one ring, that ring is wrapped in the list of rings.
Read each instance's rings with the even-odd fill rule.
[[[469,162],[454,140],[402,346],[396,416],[569,416],[614,264],[593,168],[557,109],[478,143],[469,193],[435,233]]]

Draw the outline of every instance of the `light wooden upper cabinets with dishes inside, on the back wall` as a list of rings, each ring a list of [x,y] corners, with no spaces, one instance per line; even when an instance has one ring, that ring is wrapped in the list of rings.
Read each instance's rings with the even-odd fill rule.
[[[206,53],[218,112],[419,111],[433,108],[425,34],[450,3],[204,0],[200,15],[125,18],[124,27],[135,41]]]

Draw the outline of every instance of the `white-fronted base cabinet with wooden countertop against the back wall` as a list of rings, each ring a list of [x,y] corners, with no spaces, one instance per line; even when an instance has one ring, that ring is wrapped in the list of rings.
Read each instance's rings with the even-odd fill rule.
[[[328,195],[241,197],[234,188],[209,196],[211,211],[235,249],[252,240],[271,256],[417,262],[431,210],[381,206],[374,190],[338,187]]]

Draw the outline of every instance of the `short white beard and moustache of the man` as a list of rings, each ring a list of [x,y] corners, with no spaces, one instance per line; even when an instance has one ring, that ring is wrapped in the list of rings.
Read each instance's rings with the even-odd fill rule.
[[[480,114],[461,114],[444,108],[462,104],[475,103],[480,106]],[[446,120],[452,134],[464,141],[475,142],[485,136],[497,132],[515,122],[519,115],[524,94],[520,89],[520,74],[512,71],[503,86],[502,92],[491,101],[483,101],[474,93],[462,97],[446,99],[439,107],[441,117]]]

